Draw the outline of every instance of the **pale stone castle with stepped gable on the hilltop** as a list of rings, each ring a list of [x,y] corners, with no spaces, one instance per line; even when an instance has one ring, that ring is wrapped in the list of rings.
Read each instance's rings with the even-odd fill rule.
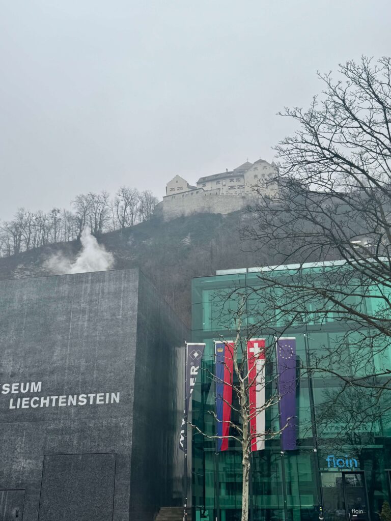
[[[166,184],[166,195],[155,207],[155,213],[170,220],[193,213],[228,214],[245,207],[254,187],[265,195],[276,190],[273,177],[278,173],[274,162],[258,159],[243,163],[231,171],[200,177],[196,186],[176,175]]]

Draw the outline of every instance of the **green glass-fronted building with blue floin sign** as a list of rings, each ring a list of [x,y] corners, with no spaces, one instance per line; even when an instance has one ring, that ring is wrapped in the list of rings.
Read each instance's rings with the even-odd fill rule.
[[[284,268],[284,276],[287,269]],[[304,265],[303,269],[309,276],[316,272],[313,266],[306,268]],[[279,276],[278,270],[273,272],[273,276]],[[257,284],[260,283],[256,269],[231,270],[214,277],[196,278],[192,282],[192,341],[206,344],[203,370],[192,395],[192,423],[210,436],[215,432],[215,420],[210,414],[215,406],[211,378],[214,371],[213,342],[235,338],[229,318],[232,302],[227,307],[227,295],[232,296],[238,288],[242,292],[248,288],[253,291]],[[243,318],[243,327],[247,331],[262,313],[259,305],[262,295],[253,294],[246,301],[246,316]],[[354,299],[353,296],[351,302]],[[370,299],[356,304],[376,313],[377,304]],[[224,308],[226,312],[222,314]],[[332,352],[332,346],[349,331],[351,345],[346,346],[344,357],[332,362],[328,359],[327,362],[335,364],[336,373],[345,371],[348,375],[357,355],[355,335],[360,336],[363,331],[333,319],[333,313],[323,317],[321,323],[314,315],[305,324],[292,320],[287,328],[277,320],[275,326],[277,334],[280,327],[284,329],[284,336],[296,338],[297,449],[283,453],[279,436],[276,436],[266,438],[264,450],[251,454],[250,519],[317,521],[324,516],[325,521],[380,521],[383,504],[390,501],[388,394],[375,395],[372,389],[365,388],[343,388],[337,376],[321,371],[301,373],[300,370],[300,361],[306,361],[316,351]],[[270,331],[257,331],[257,338],[267,339],[271,334]],[[273,339],[270,337],[268,341],[273,342]],[[383,348],[373,349],[366,357],[365,371],[368,374],[391,367],[391,350],[387,346]],[[372,368],[368,369],[368,365]],[[357,375],[357,370],[361,369],[356,367],[355,370]],[[266,365],[266,374],[273,374],[273,371],[275,362],[270,361]],[[268,392],[272,389],[266,388],[266,395]],[[277,405],[267,408],[265,414],[266,428],[278,430]],[[233,420],[238,421],[235,412]],[[238,442],[230,440],[228,450],[217,453],[213,439],[193,432],[193,519],[240,519],[241,479],[241,446]]]

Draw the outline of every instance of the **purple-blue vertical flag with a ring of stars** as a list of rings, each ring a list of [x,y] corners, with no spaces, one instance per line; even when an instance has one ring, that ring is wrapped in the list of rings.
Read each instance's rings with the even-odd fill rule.
[[[296,338],[279,338],[276,342],[279,426],[281,448],[283,451],[296,449],[297,412],[296,412]],[[285,427],[286,426],[286,427]]]

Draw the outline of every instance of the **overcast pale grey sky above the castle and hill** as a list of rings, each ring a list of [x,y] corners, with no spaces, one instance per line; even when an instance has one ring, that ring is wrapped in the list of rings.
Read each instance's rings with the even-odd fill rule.
[[[262,157],[316,70],[391,54],[389,0],[0,0],[0,219]]]

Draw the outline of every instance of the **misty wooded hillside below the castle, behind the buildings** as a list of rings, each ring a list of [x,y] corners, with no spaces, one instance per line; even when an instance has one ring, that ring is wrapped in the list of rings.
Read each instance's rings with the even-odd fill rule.
[[[238,230],[244,218],[241,212],[194,214],[168,222],[153,218],[105,233],[99,242],[114,255],[115,269],[139,267],[189,324],[192,277],[267,264],[264,253],[243,251]],[[46,261],[54,253],[74,258],[79,250],[80,242],[73,241],[1,258],[0,279],[51,275]]]

